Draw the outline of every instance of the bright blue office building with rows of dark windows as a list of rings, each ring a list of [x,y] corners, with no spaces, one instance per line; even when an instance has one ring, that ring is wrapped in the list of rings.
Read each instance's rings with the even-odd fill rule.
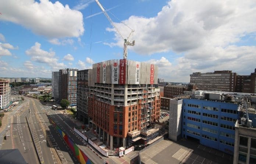
[[[202,145],[233,154],[239,107],[235,103],[183,99],[182,137],[192,137]]]

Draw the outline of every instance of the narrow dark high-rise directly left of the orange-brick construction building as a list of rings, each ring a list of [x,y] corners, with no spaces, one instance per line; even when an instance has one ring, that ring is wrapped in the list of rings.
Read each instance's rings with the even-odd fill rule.
[[[77,119],[88,123],[88,72],[89,69],[77,71]]]

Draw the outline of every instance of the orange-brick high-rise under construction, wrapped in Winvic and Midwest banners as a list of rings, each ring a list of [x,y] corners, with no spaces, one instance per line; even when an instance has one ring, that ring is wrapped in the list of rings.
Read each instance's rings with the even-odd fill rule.
[[[89,127],[111,149],[148,142],[157,133],[144,133],[159,119],[157,74],[156,65],[127,59],[96,63],[89,70]]]

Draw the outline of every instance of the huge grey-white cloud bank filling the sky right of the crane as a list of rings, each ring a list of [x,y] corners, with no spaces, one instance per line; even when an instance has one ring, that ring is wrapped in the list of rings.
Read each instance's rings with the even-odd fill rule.
[[[123,22],[135,30],[135,46],[129,50],[144,55],[172,52],[170,66],[164,66],[163,58],[158,61],[159,77],[188,82],[192,72],[253,72],[255,46],[238,43],[245,36],[255,36],[255,13],[256,1],[172,0],[155,17],[131,16]],[[129,28],[115,24],[124,36],[129,36]],[[123,47],[123,39],[115,29],[106,30],[114,32],[115,41],[104,44]]]

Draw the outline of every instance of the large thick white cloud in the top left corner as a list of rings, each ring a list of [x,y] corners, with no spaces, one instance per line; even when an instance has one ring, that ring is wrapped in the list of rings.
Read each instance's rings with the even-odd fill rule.
[[[49,38],[79,37],[83,34],[83,15],[59,1],[0,1],[0,20],[10,21]]]

